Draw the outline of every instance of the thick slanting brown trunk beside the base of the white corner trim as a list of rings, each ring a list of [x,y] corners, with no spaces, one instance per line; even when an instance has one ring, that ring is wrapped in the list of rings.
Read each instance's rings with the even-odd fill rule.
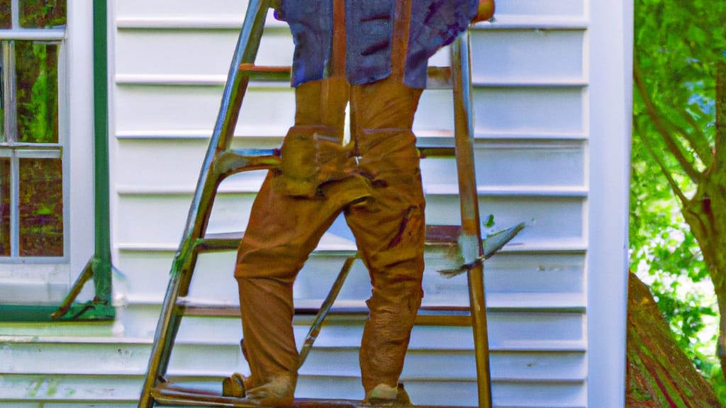
[[[626,407],[722,407],[678,347],[650,290],[634,274],[628,290]]]

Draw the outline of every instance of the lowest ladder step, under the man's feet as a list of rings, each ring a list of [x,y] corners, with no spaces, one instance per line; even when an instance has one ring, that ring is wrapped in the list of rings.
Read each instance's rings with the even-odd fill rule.
[[[260,405],[244,404],[238,399],[229,396],[221,396],[219,393],[195,388],[184,388],[174,383],[160,383],[151,390],[152,397],[160,405],[179,405],[184,407],[234,407],[234,408],[259,408]],[[356,399],[295,399],[294,407],[297,408],[376,408],[391,407],[391,404],[363,404],[363,401]],[[396,407],[404,407],[397,405]],[[408,405],[406,407],[438,408],[439,406]],[[446,406],[446,408],[456,408]],[[463,407],[460,407],[463,408]]]

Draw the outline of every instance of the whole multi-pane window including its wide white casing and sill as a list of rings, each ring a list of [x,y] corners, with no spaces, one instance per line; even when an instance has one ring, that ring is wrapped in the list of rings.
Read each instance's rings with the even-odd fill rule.
[[[0,0],[0,321],[60,304],[93,251],[91,4]]]

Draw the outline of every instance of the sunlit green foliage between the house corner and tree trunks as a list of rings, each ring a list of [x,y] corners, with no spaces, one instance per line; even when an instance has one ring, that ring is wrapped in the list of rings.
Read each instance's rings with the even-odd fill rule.
[[[678,343],[724,403],[712,271],[680,211],[716,155],[725,21],[726,0],[635,0],[630,197],[631,267],[650,283]]]

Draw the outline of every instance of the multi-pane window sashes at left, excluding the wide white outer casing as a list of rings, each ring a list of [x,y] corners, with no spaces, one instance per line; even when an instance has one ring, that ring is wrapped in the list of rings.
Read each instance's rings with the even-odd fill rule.
[[[65,0],[0,0],[0,260],[65,256]]]

